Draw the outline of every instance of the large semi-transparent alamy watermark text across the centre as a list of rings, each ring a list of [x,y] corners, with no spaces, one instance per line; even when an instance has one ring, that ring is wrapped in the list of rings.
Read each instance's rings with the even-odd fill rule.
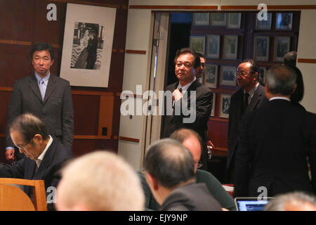
[[[183,98],[175,101],[171,91],[145,91],[142,94],[142,85],[136,85],[135,98],[133,91],[122,91],[121,115],[174,115],[183,117],[183,123],[195,122],[197,117],[196,91],[183,91]],[[145,103],[143,103],[145,100]]]

